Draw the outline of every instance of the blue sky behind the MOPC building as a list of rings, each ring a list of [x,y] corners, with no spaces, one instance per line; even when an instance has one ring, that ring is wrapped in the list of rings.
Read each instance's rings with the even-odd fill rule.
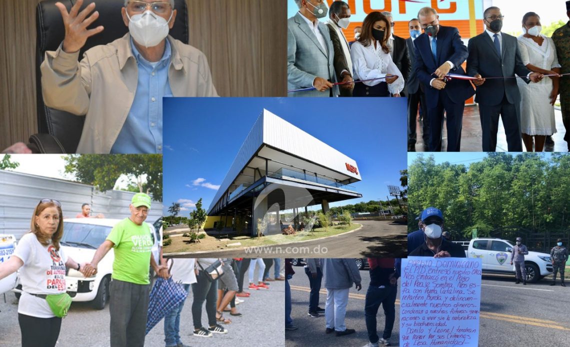
[[[385,199],[406,165],[405,98],[167,98],[164,100],[164,213],[181,202],[207,209],[263,108],[356,160],[361,199]]]

